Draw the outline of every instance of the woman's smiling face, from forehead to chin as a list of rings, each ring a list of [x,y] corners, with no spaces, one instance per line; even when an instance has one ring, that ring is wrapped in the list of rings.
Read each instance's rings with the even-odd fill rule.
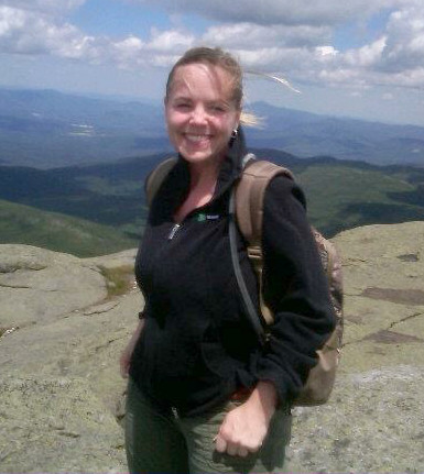
[[[219,66],[196,63],[175,70],[165,99],[167,133],[189,163],[224,158],[240,119],[231,85],[231,76]]]

